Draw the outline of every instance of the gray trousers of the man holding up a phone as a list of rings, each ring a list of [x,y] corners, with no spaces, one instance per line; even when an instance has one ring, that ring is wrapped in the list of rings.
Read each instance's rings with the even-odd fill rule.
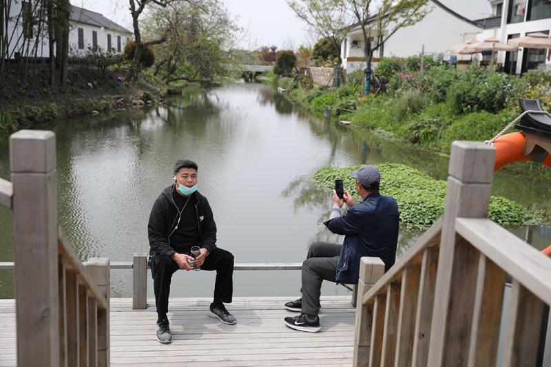
[[[337,262],[342,245],[331,242],[313,242],[302,262],[302,313],[318,315],[322,282],[336,283]]]

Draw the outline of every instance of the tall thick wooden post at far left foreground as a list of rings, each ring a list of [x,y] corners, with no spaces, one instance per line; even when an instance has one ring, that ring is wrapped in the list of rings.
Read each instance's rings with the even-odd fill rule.
[[[17,366],[59,366],[56,142],[53,132],[10,137]]]

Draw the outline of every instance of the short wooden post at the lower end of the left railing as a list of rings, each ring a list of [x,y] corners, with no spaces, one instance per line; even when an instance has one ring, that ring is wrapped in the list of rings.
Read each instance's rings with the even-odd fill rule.
[[[111,265],[109,258],[91,258],[86,263],[86,270],[92,281],[107,300],[106,309],[98,309],[97,313],[97,365],[98,367],[110,366],[110,291],[111,291]],[[96,353],[94,353],[94,357]]]

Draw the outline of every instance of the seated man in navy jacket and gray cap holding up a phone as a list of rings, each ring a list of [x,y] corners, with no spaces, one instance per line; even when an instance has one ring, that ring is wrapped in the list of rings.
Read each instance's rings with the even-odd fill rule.
[[[342,199],[333,191],[333,209],[324,224],[329,231],[344,235],[344,242],[311,244],[302,263],[302,297],[285,304],[289,311],[300,312],[296,317],[285,317],[290,328],[309,333],[320,331],[318,313],[323,280],[357,284],[362,256],[381,258],[385,271],[395,262],[399,220],[396,200],[379,193],[381,175],[375,167],[364,166],[350,176],[356,179],[362,202],[356,204],[349,191],[344,191]],[[341,216],[343,202],[349,210]]]

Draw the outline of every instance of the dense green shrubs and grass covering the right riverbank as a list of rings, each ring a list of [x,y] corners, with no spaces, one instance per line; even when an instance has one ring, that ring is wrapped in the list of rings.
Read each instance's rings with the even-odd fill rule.
[[[453,140],[488,140],[519,115],[518,98],[538,98],[551,105],[551,72],[528,72],[522,77],[495,67],[458,70],[433,58],[384,59],[377,68],[386,92],[362,95],[361,71],[338,88],[308,88],[308,76],[298,81],[272,78],[295,103],[321,114],[350,120],[356,127],[383,130],[405,143],[448,152]]]

